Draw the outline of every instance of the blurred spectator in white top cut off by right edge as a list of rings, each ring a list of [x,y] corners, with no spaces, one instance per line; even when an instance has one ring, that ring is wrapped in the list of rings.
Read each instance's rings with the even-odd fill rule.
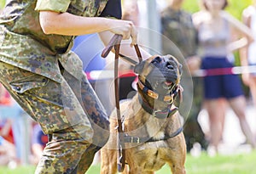
[[[253,0],[253,5],[248,6],[243,10],[242,21],[253,31],[253,37],[256,39],[256,1]],[[256,42],[250,43],[247,47],[241,49],[241,65],[256,66]],[[256,107],[256,69],[253,73],[244,73],[242,75],[243,82],[250,88],[253,103]]]

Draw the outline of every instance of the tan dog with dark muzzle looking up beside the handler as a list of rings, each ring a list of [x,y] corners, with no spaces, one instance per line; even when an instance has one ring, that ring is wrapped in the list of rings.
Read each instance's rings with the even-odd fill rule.
[[[122,173],[154,173],[168,164],[185,174],[186,143],[174,99],[182,91],[182,65],[171,55],[152,56],[134,68],[137,94],[120,103],[125,141]],[[118,172],[119,134],[116,110],[110,115],[110,137],[101,149],[101,174]],[[171,173],[171,172],[170,172]]]

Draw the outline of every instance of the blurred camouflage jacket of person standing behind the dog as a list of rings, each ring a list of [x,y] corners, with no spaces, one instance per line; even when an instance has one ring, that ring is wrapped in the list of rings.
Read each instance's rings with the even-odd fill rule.
[[[196,54],[197,33],[189,13],[166,8],[161,13],[161,32],[176,44],[185,58]],[[163,51],[170,53],[165,43],[163,43]]]

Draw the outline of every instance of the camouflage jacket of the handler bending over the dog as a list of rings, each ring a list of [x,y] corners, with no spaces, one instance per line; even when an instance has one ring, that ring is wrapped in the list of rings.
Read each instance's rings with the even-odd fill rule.
[[[73,36],[45,35],[38,10],[99,16],[108,0],[11,0],[0,15],[0,60],[61,82],[61,65],[81,76],[82,63],[70,51]]]

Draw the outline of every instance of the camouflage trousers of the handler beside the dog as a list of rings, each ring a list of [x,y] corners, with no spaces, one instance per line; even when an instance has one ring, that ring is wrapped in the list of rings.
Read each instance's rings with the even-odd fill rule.
[[[60,71],[61,83],[0,62],[3,86],[49,134],[35,173],[84,173],[108,141],[108,116],[86,76]]]

